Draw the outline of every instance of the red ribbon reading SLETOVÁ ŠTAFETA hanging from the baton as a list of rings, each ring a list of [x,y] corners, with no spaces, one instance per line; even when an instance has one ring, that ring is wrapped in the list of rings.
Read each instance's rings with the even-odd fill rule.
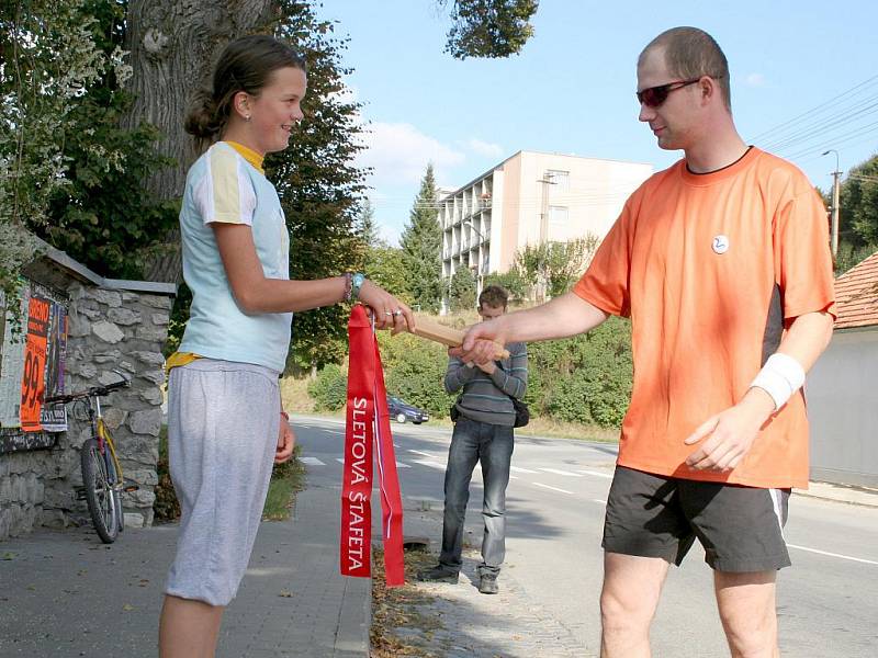
[[[384,371],[365,309],[354,306],[348,322],[350,365],[341,487],[341,574],[371,574],[372,454],[378,462],[387,587],[405,583],[403,503],[387,412]]]

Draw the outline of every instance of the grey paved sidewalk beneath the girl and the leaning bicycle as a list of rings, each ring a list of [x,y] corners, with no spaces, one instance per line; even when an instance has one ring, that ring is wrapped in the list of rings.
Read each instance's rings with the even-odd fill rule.
[[[293,519],[259,529],[228,608],[222,658],[369,655],[371,583],[338,572],[337,488],[300,491]],[[155,658],[177,525],[83,529],[0,543],[0,656]]]

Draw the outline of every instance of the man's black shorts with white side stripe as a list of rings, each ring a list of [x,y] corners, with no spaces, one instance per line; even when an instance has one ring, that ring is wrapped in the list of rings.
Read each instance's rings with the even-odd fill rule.
[[[607,499],[604,549],[661,557],[679,566],[695,537],[718,571],[769,571],[790,565],[784,524],[789,489],[723,483],[616,468]]]

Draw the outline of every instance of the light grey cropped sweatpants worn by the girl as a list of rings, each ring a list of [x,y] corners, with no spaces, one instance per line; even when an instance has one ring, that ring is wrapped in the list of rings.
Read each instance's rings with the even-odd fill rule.
[[[199,359],[170,372],[168,456],[182,518],[165,592],[227,605],[266,502],[280,429],[278,373]]]

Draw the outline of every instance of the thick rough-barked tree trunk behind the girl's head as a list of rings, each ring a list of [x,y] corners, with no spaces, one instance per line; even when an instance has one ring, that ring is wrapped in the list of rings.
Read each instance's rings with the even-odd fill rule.
[[[135,101],[123,125],[155,125],[162,135],[159,150],[176,160],[147,181],[157,198],[182,195],[185,173],[199,155],[183,131],[192,94],[212,84],[213,66],[229,41],[259,32],[277,16],[277,0],[128,0],[125,48],[134,69],[128,89]],[[179,230],[166,242],[167,250],[153,259],[146,277],[179,283]]]

